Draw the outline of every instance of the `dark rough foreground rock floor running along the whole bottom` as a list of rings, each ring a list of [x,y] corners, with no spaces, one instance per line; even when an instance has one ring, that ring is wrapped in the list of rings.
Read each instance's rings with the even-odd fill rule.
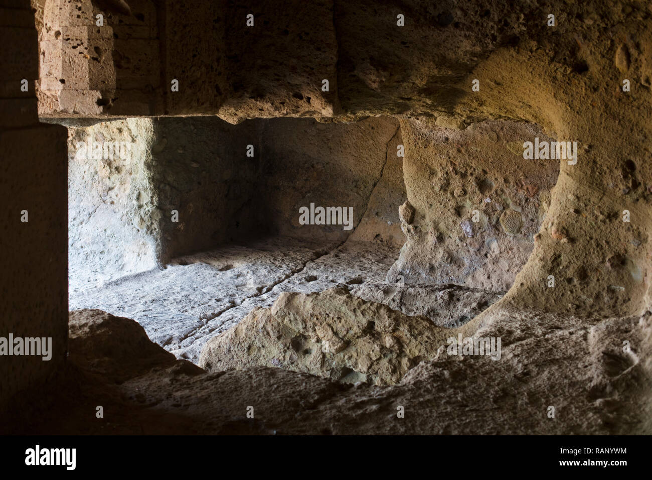
[[[588,319],[498,307],[481,314],[484,327],[477,334],[502,338],[500,361],[448,355],[442,347],[386,387],[265,366],[209,373],[149,342],[132,320],[98,310],[72,312],[65,371],[41,385],[33,402],[0,415],[0,431],[652,433],[651,312]],[[630,353],[623,352],[623,338],[631,342]],[[104,418],[95,416],[98,404]],[[247,417],[249,406],[254,418]]]

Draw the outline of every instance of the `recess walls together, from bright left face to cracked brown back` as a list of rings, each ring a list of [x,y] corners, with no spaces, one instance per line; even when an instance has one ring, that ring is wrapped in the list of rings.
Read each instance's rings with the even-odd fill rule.
[[[70,283],[101,285],[173,257],[267,236],[400,246],[398,121],[215,117],[69,127]],[[393,153],[393,156],[391,153]],[[300,221],[339,207],[347,220]],[[363,221],[364,220],[364,221]],[[357,227],[360,227],[359,229]]]

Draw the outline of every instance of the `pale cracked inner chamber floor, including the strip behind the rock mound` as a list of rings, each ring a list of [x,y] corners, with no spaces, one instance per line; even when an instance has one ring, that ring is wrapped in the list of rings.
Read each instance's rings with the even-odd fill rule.
[[[179,359],[197,363],[211,337],[254,307],[272,306],[282,292],[312,293],[344,286],[353,295],[408,315],[454,327],[496,302],[501,293],[456,285],[385,283],[398,249],[270,238],[179,257],[101,288],[70,278],[70,310],[96,308],[134,319],[149,338]]]

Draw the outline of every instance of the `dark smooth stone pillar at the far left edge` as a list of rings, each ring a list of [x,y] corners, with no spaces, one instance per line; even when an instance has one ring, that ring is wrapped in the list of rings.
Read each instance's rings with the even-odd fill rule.
[[[68,336],[67,131],[38,123],[37,30],[29,1],[1,3],[0,337],[52,338],[50,360],[0,356],[0,409],[63,366]],[[22,80],[27,91],[22,91]],[[27,220],[27,221],[23,221]]]

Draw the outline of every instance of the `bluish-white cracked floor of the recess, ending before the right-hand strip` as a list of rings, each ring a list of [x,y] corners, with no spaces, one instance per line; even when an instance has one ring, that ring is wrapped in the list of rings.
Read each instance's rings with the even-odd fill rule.
[[[368,242],[337,247],[274,238],[179,257],[166,268],[71,295],[70,309],[99,308],[136,319],[154,342],[196,362],[211,336],[255,306],[271,306],[284,291],[382,281],[396,254]]]

